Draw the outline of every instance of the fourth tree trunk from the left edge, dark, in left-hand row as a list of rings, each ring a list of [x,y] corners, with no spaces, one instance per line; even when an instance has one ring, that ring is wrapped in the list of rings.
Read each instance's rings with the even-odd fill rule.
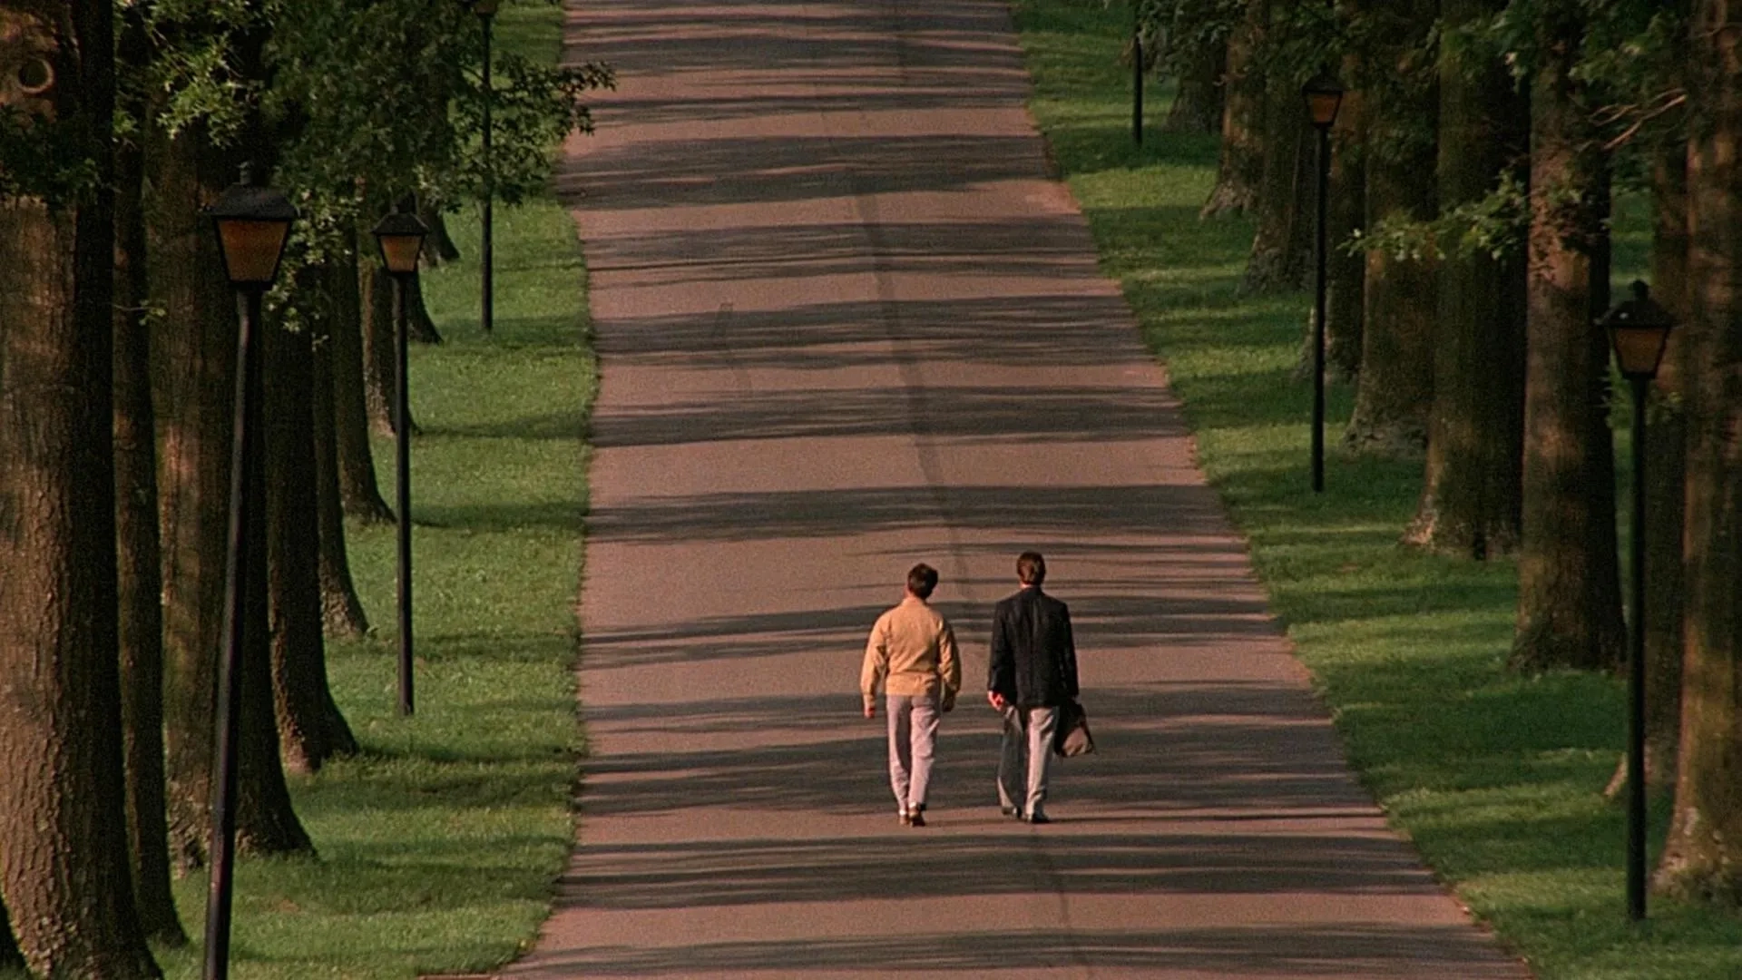
[[[321,535],[308,333],[267,331],[267,582],[279,752],[294,772],[357,752],[327,689],[321,621]]]

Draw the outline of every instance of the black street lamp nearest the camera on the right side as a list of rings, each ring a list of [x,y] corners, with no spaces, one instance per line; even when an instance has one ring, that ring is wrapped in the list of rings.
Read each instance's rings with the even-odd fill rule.
[[[1676,319],[1651,300],[1644,282],[1634,296],[1603,316],[1615,363],[1632,387],[1634,493],[1631,555],[1631,623],[1627,624],[1627,917],[1644,919],[1644,399],[1664,363]]]

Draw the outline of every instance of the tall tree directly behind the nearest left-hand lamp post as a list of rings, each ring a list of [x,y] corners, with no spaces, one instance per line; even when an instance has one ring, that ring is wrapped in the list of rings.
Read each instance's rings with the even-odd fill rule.
[[[216,75],[165,77],[159,91],[171,98],[153,106],[146,127],[153,187],[146,211],[150,282],[165,310],[152,338],[152,377],[162,439],[169,834],[178,863],[193,867],[204,863],[211,832],[213,691],[225,643],[237,370],[235,296],[223,281],[223,258],[202,209],[237,178],[249,155],[268,153],[273,141],[251,101],[232,101],[235,91],[254,92],[265,78],[267,23],[258,2],[162,10],[153,37],[164,45],[155,63],[165,73],[186,65],[190,51],[209,54],[197,65],[223,66],[213,70]],[[251,535],[265,542],[263,528],[251,528]],[[265,548],[254,555],[263,561]],[[263,572],[253,579],[260,595],[247,596],[258,603],[247,617],[258,635],[249,636],[242,654],[237,839],[242,849],[296,853],[307,849],[307,835],[291,811],[277,753]],[[256,671],[258,682],[251,682]]]

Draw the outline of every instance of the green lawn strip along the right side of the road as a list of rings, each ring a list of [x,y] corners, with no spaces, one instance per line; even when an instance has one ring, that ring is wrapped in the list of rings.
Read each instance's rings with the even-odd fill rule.
[[[1235,293],[1251,227],[1197,218],[1214,140],[1151,126],[1132,146],[1129,68],[1118,65],[1129,14],[1101,0],[1014,9],[1033,113],[1103,269],[1167,364],[1204,467],[1392,823],[1543,980],[1742,977],[1737,917],[1653,902],[1648,924],[1627,924],[1625,816],[1601,797],[1624,745],[1622,687],[1503,670],[1514,565],[1397,546],[1421,466],[1336,448],[1354,403],[1347,387],[1329,396],[1327,492],[1310,492],[1312,392],[1293,378],[1310,298]],[[1151,122],[1164,110],[1165,99]],[[1632,206],[1622,218],[1618,269],[1637,270],[1643,214]],[[1655,800],[1655,840],[1667,809]]]

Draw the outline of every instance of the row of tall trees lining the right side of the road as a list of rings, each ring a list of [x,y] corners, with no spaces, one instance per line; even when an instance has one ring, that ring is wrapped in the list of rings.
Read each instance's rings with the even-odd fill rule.
[[[1425,448],[1408,542],[1516,555],[1521,671],[1625,656],[1592,323],[1613,201],[1650,201],[1651,295],[1681,324],[1650,415],[1648,781],[1676,793],[1655,888],[1742,902],[1742,3],[1141,0],[1139,24],[1179,82],[1167,126],[1219,127],[1204,213],[1256,220],[1247,289],[1305,282],[1300,85],[1348,85],[1327,218],[1345,443]]]

